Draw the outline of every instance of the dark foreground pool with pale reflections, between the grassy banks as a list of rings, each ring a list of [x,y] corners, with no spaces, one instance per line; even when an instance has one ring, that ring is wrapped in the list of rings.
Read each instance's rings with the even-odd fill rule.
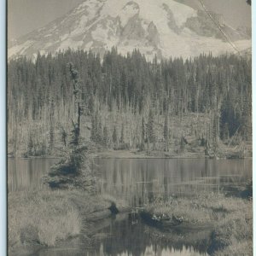
[[[86,242],[83,242],[83,239],[81,239],[74,243],[62,244],[58,248],[43,249],[33,255],[207,255],[207,244],[201,243],[201,245],[198,245],[196,242],[193,243],[192,241],[192,244],[194,244],[194,246],[192,246],[189,239],[186,243],[172,242],[172,239],[168,241],[155,241],[147,232],[146,229],[148,229],[148,227],[142,223],[141,219],[137,219],[137,223],[133,223],[132,220],[131,216],[127,218],[126,215],[121,215],[118,219],[108,219],[110,224],[102,228],[100,233],[95,237],[93,245],[90,247],[84,246]],[[150,230],[150,233],[152,232],[154,232],[154,230]],[[97,238],[100,236],[103,237],[104,235],[106,235],[105,238]],[[169,234],[169,236],[173,236],[173,240],[175,240],[175,236],[178,236],[178,234]]]

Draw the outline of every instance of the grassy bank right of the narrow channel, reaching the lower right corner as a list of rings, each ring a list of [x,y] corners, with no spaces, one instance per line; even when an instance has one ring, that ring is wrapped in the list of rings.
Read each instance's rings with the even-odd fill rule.
[[[182,218],[191,227],[208,226],[210,255],[253,255],[253,203],[224,195],[198,195],[194,199],[157,200],[148,212]],[[157,236],[159,236],[157,234]]]

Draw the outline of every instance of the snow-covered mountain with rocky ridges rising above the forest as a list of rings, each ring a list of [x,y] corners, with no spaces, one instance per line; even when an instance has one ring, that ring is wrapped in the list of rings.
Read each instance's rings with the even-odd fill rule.
[[[191,1],[190,1],[191,2]],[[192,1],[193,2],[193,1]],[[191,3],[192,3],[191,2]],[[8,55],[34,57],[71,49],[104,53],[116,46],[126,54],[139,49],[149,59],[212,55],[251,47],[245,30],[227,26],[220,15],[184,0],[85,0],[67,15],[9,44]],[[214,21],[214,22],[213,22]]]

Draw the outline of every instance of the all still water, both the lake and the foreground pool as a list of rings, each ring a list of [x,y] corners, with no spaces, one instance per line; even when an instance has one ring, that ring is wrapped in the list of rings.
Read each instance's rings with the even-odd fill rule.
[[[48,189],[41,177],[55,161],[9,159],[9,192]],[[252,160],[95,159],[91,168],[98,177],[97,193],[123,199],[131,207],[142,207],[159,197],[188,197],[212,192],[235,195],[252,177]],[[152,228],[143,224],[140,218],[132,219],[131,215],[117,215],[98,226],[94,244],[90,246],[79,238],[33,255],[207,255],[206,248],[193,247],[189,240],[180,244],[163,239],[154,241],[150,237]],[[168,234],[173,240],[180,235]]]

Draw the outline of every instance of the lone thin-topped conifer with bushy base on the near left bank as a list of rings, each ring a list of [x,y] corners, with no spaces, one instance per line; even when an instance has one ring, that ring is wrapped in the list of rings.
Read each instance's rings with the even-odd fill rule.
[[[91,189],[94,190],[95,187],[95,179],[90,172],[89,157],[86,154],[88,148],[82,145],[80,137],[82,108],[79,72],[72,63],[68,64],[68,68],[73,83],[77,120],[74,122],[72,119],[73,130],[70,133],[66,154],[55,166],[51,167],[48,177],[44,177],[44,180],[52,189],[87,189],[92,191]]]

